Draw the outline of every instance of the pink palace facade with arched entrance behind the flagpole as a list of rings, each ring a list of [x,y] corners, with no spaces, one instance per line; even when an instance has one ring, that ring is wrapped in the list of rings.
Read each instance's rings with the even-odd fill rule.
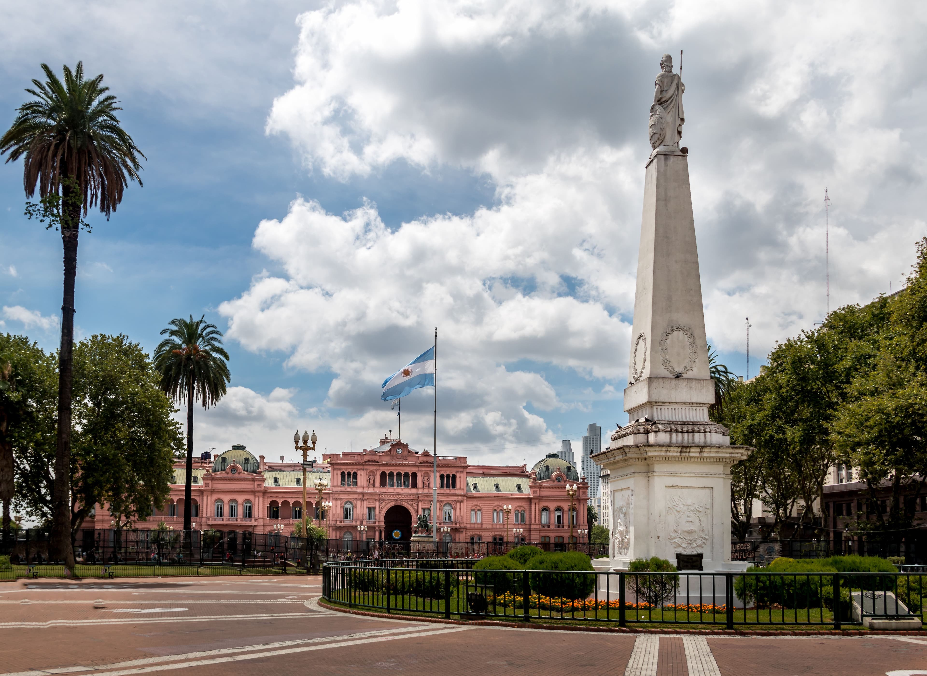
[[[323,462],[307,472],[306,506],[309,516],[318,518],[314,487],[323,478],[328,485],[323,501],[332,505],[324,514],[329,538],[409,540],[417,517],[430,514],[431,476],[431,453],[384,438],[369,450],[324,453]],[[164,521],[183,528],[184,480],[182,460],[174,466],[164,508],[135,527],[156,528]],[[194,528],[269,533],[282,527],[289,532],[302,518],[301,482],[298,463],[268,462],[241,444],[214,459],[195,459]],[[567,484],[578,485],[572,517]],[[570,520],[578,542],[578,529],[589,529],[588,495],[585,478],[555,453],[530,470],[525,465],[470,465],[464,456],[438,455],[438,526],[449,529],[439,537],[447,542],[569,542]],[[503,505],[512,506],[507,522]]]

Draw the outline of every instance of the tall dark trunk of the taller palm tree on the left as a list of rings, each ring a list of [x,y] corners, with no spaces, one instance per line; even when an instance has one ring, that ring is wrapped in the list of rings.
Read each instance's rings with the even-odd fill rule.
[[[65,191],[68,188],[65,187]],[[65,198],[67,204],[67,198]],[[68,214],[72,216],[73,214]],[[80,205],[77,218],[80,220]],[[57,446],[55,451],[55,487],[52,495],[52,533],[50,558],[74,567],[74,549],[70,530],[70,408],[73,382],[74,346],[74,278],[77,276],[77,227],[62,223],[64,242],[64,302],[61,305],[61,348],[58,352]]]

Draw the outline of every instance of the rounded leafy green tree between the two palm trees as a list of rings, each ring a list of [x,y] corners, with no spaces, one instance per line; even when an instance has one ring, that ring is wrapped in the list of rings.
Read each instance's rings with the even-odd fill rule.
[[[174,408],[137,343],[96,335],[74,350],[74,434],[70,455],[73,539],[96,504],[108,504],[118,528],[146,520],[170,492],[175,453],[183,450]],[[54,411],[54,395],[44,408]],[[44,421],[37,420],[44,425]],[[41,429],[23,430],[40,439]],[[54,447],[24,445],[17,454],[18,500],[38,520],[52,517]]]

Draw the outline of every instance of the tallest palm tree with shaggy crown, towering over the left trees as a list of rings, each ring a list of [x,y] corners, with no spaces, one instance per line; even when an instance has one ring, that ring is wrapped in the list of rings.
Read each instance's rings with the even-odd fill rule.
[[[32,198],[35,187],[44,200],[57,201],[57,226],[64,244],[64,302],[61,307],[61,349],[58,352],[57,446],[55,488],[52,496],[50,555],[74,565],[70,542],[70,409],[71,350],[74,342],[74,277],[77,274],[77,236],[83,215],[99,206],[107,215],[122,201],[129,181],[142,185],[139,158],[145,158],[122,129],[115,96],[102,86],[103,75],[83,79],[83,63],[64,67],[59,80],[42,64],[45,82],[32,80],[26,92],[34,100],[19,107],[13,125],[0,138],[6,161],[23,159],[22,183]],[[46,206],[48,202],[45,202]]]

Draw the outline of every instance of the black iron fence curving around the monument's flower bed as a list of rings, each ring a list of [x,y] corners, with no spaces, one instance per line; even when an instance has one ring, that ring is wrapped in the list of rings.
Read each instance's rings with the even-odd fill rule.
[[[329,562],[323,597],[389,613],[619,626],[920,627],[927,575],[489,570],[459,559]]]

